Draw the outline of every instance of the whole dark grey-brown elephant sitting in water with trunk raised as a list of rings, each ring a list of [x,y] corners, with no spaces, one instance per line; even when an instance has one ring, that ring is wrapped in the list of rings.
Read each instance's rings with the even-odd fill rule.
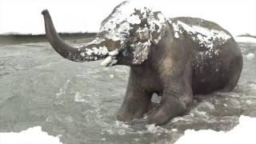
[[[125,98],[116,118],[164,125],[190,110],[196,94],[234,90],[242,53],[232,35],[202,18],[166,18],[161,11],[122,2],[102,21],[92,42],[69,46],[59,37],[48,10],[42,11],[50,45],[74,62],[130,66]],[[161,96],[152,105],[153,94]]]

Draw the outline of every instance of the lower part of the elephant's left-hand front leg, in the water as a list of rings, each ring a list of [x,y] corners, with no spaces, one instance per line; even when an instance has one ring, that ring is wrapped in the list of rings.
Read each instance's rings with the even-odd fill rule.
[[[122,122],[130,122],[134,118],[142,118],[150,105],[150,99],[151,94],[130,83],[116,118]]]

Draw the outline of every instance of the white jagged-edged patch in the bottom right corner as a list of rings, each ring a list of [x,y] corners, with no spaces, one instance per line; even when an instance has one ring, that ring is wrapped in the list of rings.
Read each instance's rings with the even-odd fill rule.
[[[174,144],[255,144],[256,118],[241,116],[230,131],[186,130]]]

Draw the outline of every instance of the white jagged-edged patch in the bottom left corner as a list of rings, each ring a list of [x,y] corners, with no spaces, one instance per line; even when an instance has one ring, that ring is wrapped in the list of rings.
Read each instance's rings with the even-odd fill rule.
[[[1,144],[62,144],[58,137],[42,131],[41,126],[34,126],[19,133],[0,133]]]

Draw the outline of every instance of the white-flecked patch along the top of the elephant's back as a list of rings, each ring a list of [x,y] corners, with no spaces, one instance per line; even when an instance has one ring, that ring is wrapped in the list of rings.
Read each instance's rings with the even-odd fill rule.
[[[217,23],[202,18],[170,18],[169,24],[174,38],[190,38],[205,50],[213,50],[232,38],[231,34]]]

